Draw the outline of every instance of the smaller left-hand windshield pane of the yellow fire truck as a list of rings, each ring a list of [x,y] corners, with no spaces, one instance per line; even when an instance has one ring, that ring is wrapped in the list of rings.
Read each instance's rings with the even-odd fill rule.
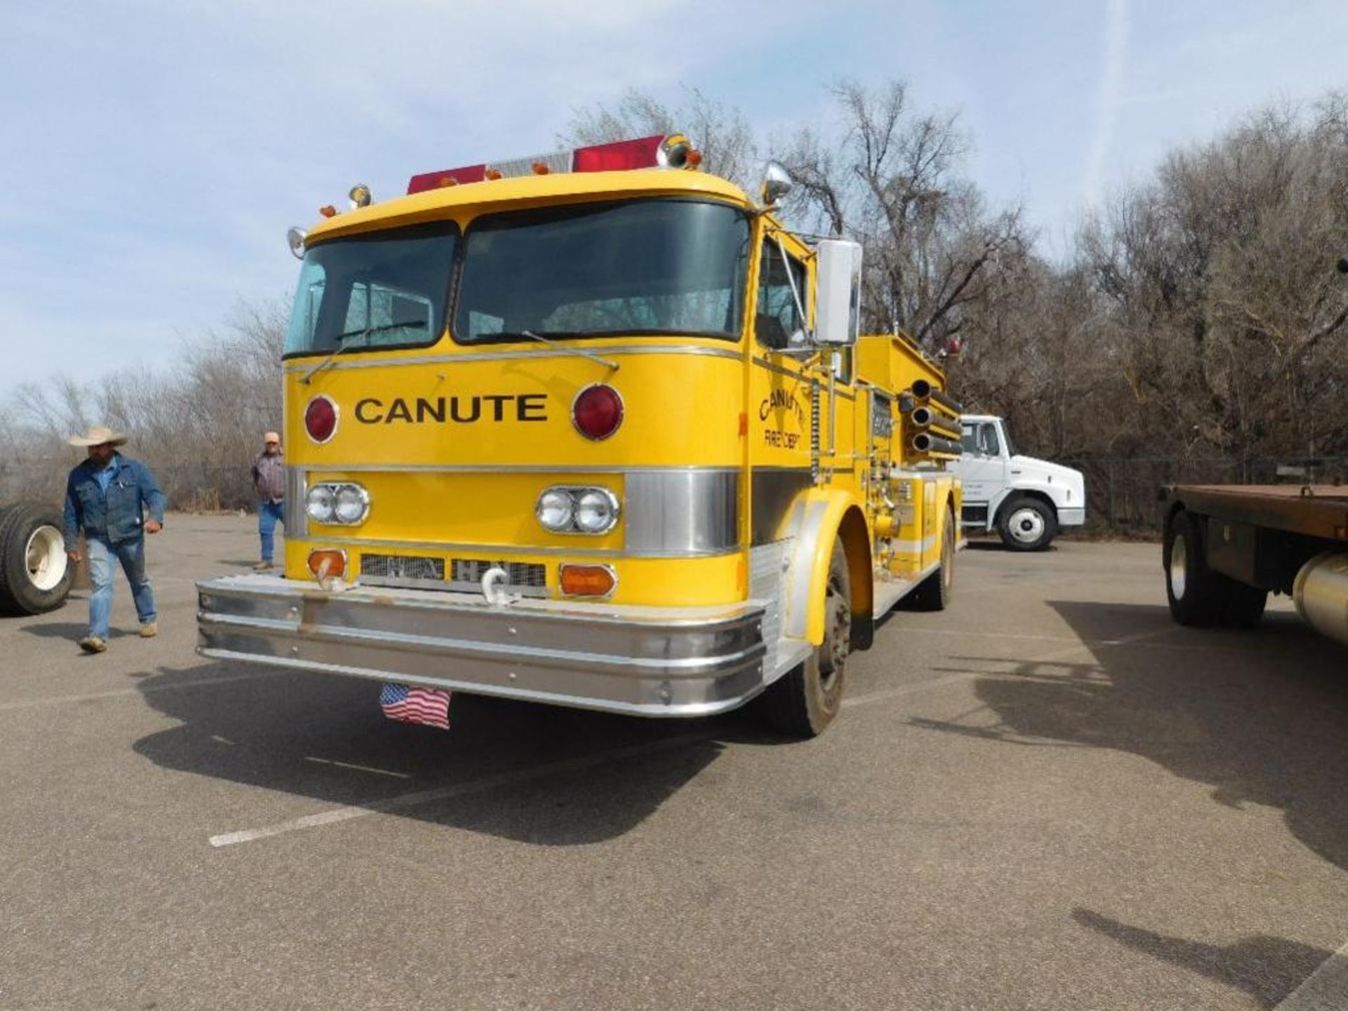
[[[286,356],[434,344],[457,245],[452,221],[314,245],[299,271]]]

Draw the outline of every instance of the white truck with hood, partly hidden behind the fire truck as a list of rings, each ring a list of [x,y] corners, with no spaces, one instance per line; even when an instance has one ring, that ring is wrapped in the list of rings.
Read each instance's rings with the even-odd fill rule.
[[[1006,422],[991,414],[965,414],[964,456],[952,469],[964,481],[961,526],[1002,535],[1012,551],[1039,551],[1061,527],[1086,522],[1085,480],[1080,470],[1015,452]]]

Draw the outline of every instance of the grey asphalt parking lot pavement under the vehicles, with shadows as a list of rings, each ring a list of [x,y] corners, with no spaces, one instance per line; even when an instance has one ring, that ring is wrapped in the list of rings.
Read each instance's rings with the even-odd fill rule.
[[[958,557],[845,710],[647,721],[205,661],[252,518],[0,620],[0,1008],[1348,1008],[1348,647],[1170,621],[1159,547]],[[120,577],[119,577],[120,578]],[[1341,950],[1343,949],[1343,950]]]

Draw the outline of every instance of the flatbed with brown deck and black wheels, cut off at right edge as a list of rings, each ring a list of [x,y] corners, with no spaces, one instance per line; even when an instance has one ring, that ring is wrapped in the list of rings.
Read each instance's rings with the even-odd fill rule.
[[[1248,628],[1286,593],[1348,642],[1348,485],[1167,485],[1161,499],[1175,621]]]

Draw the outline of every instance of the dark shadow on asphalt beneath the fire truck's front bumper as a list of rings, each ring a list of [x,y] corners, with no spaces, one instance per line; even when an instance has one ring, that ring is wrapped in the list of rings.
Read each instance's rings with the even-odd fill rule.
[[[163,768],[538,845],[621,836],[716,760],[718,737],[762,737],[745,717],[663,723],[466,694],[445,732],[384,718],[373,681],[209,662],[136,687],[182,724],[133,745]],[[423,791],[446,795],[398,801]]]

